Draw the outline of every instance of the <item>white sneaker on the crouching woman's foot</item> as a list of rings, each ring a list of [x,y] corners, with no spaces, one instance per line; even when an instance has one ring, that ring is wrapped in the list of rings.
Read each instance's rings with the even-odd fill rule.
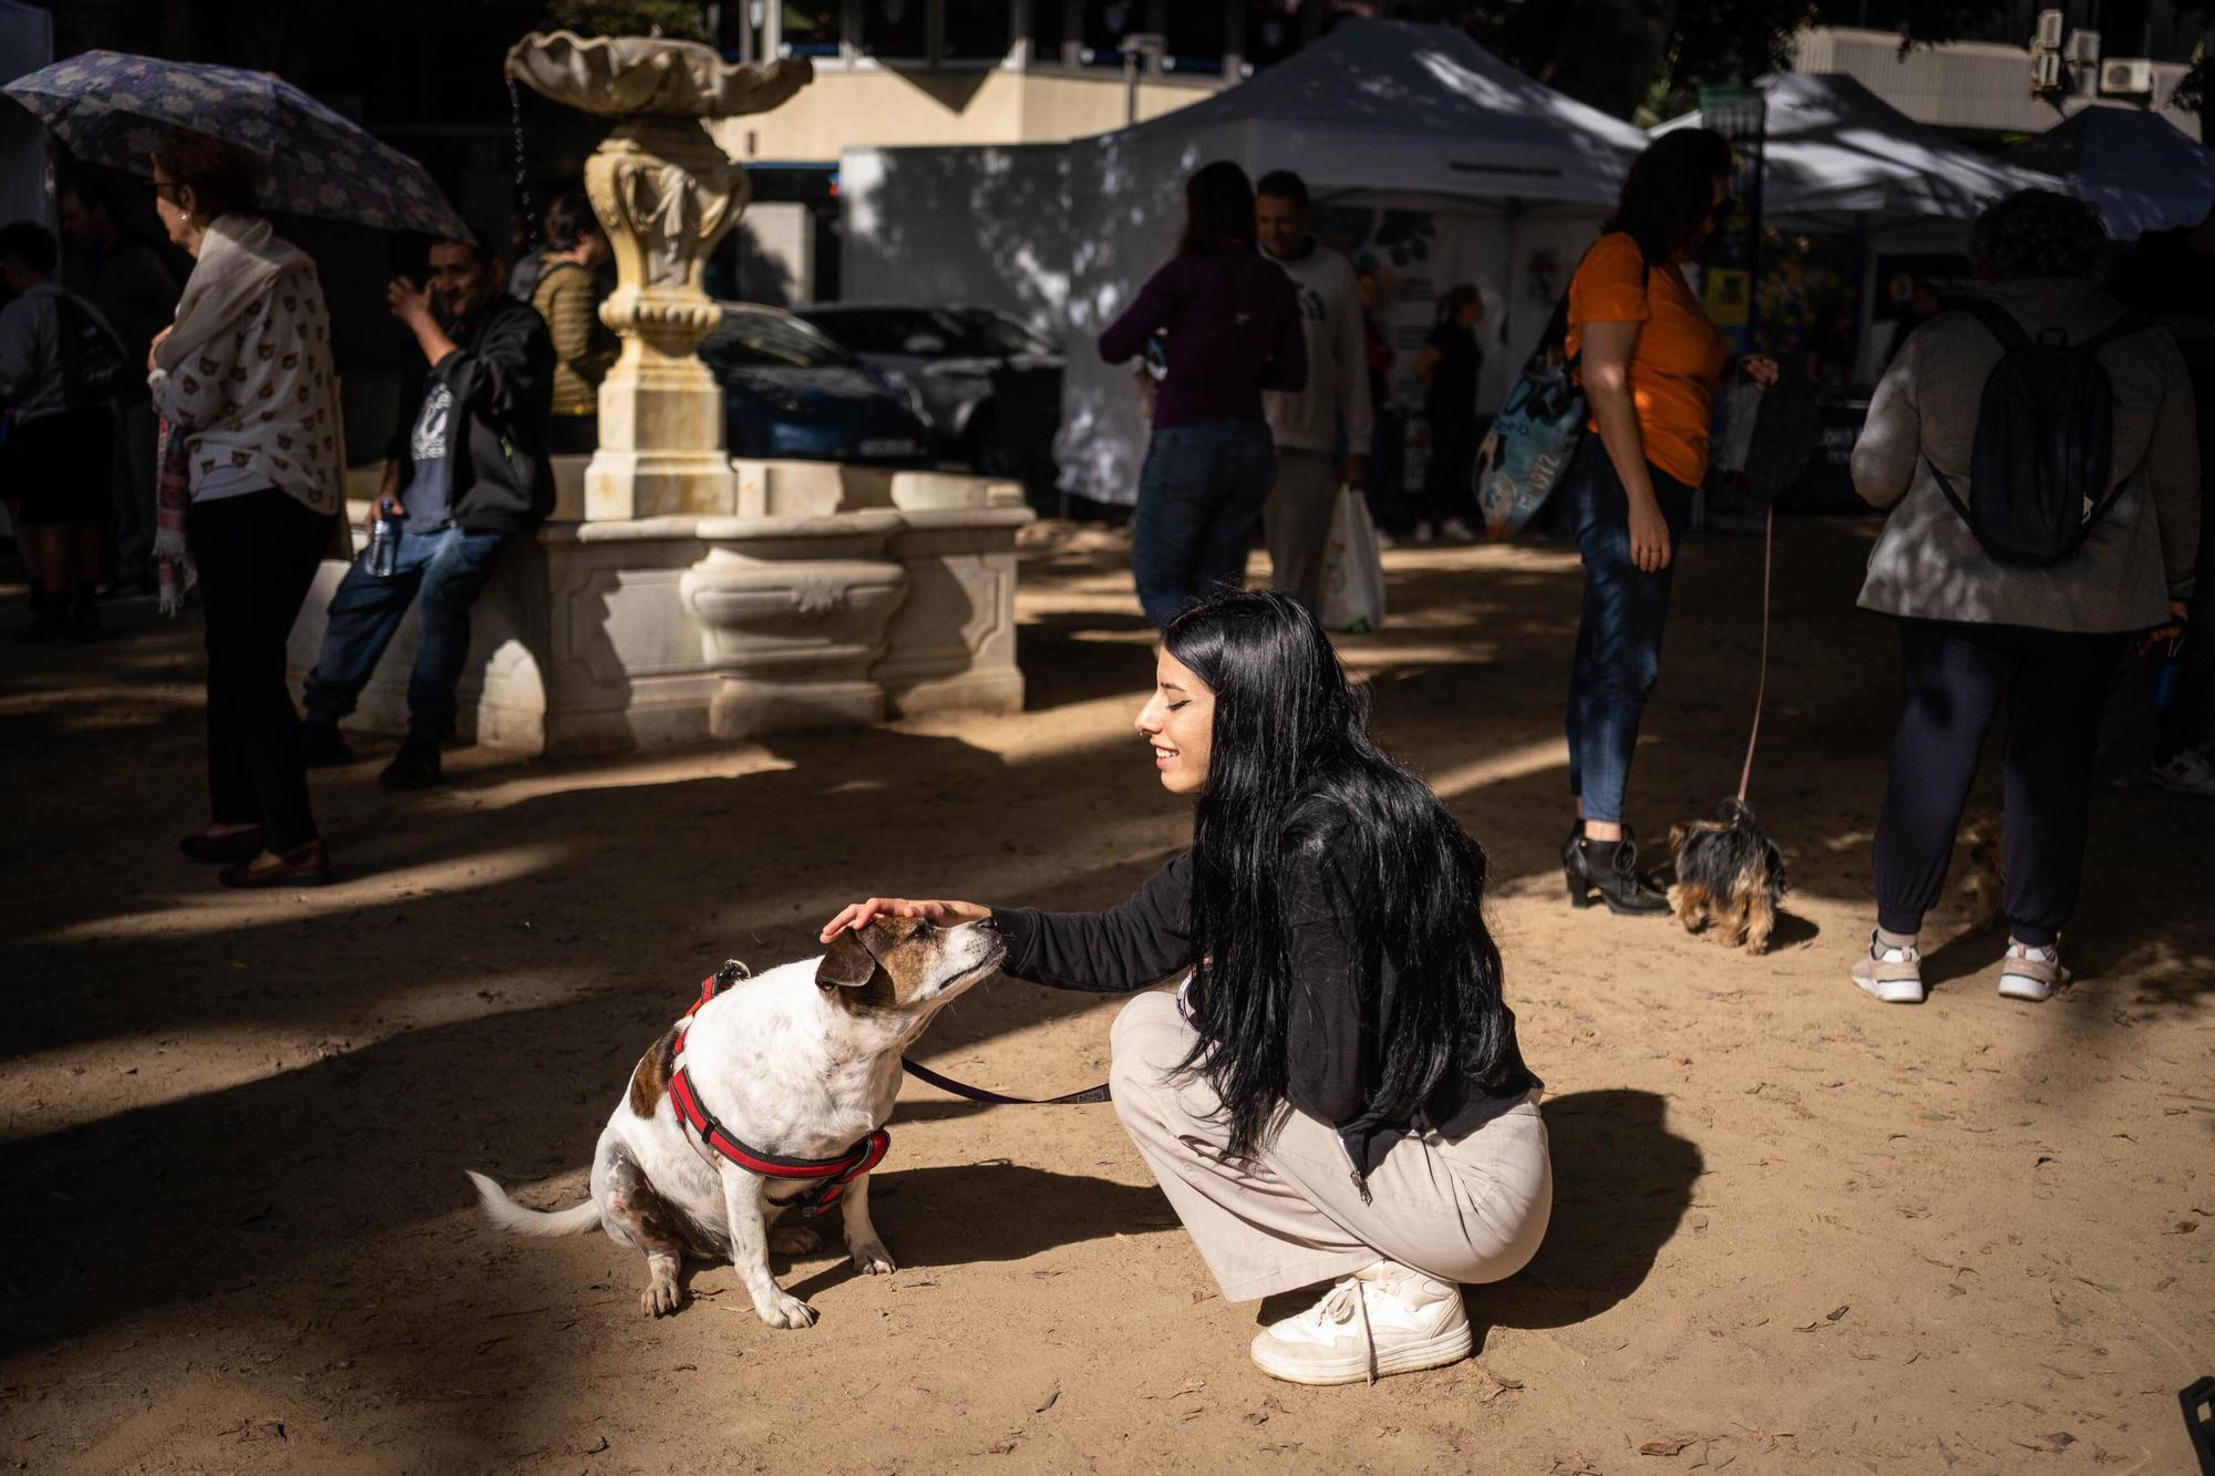
[[[1469,1356],[1475,1339],[1462,1288],[1378,1261],[1307,1312],[1254,1334],[1254,1365],[1287,1383],[1376,1383]]]

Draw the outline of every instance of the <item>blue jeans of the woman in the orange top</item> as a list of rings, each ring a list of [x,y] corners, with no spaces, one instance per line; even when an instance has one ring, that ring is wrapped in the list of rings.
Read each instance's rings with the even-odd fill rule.
[[[1568,525],[1584,554],[1584,618],[1577,623],[1577,667],[1568,678],[1568,791],[1584,798],[1584,818],[1619,822],[1639,745],[1639,714],[1661,672],[1661,625],[1677,572],[1677,545],[1692,516],[1692,488],[1646,463],[1668,523],[1668,567],[1644,574],[1630,561],[1630,494],[1615,474],[1599,432],[1584,432],[1562,476]]]

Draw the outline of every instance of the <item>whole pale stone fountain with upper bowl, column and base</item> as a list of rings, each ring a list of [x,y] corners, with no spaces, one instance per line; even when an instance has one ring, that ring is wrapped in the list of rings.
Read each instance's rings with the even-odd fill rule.
[[[720,308],[700,277],[746,175],[711,126],[775,109],[808,62],[733,66],[696,42],[556,31],[516,42],[507,75],[616,120],[585,186],[616,250],[600,317],[622,355],[600,386],[598,452],[556,459],[554,521],[478,603],[463,736],[563,754],[1019,709],[1021,488],[724,452],[722,392],[698,357]],[[323,565],[292,632],[297,676],[341,572]],[[405,731],[412,658],[414,616],[352,727]]]

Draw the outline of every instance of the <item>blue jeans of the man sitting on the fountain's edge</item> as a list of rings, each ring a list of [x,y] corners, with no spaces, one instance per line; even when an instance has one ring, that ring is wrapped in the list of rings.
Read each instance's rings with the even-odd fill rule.
[[[470,605],[492,578],[507,534],[472,534],[447,523],[414,534],[401,523],[392,574],[379,578],[357,558],[330,596],[323,654],[308,674],[308,720],[337,722],[354,711],[392,632],[421,590],[423,627],[416,665],[408,676],[408,736],[432,742],[454,731],[454,683],[470,658]]]

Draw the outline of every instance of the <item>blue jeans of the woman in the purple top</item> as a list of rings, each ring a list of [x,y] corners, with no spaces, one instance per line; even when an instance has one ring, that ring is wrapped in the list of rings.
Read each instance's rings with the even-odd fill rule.
[[[1247,547],[1274,481],[1267,421],[1154,432],[1130,523],[1130,572],[1154,629],[1216,590],[1245,585]]]

